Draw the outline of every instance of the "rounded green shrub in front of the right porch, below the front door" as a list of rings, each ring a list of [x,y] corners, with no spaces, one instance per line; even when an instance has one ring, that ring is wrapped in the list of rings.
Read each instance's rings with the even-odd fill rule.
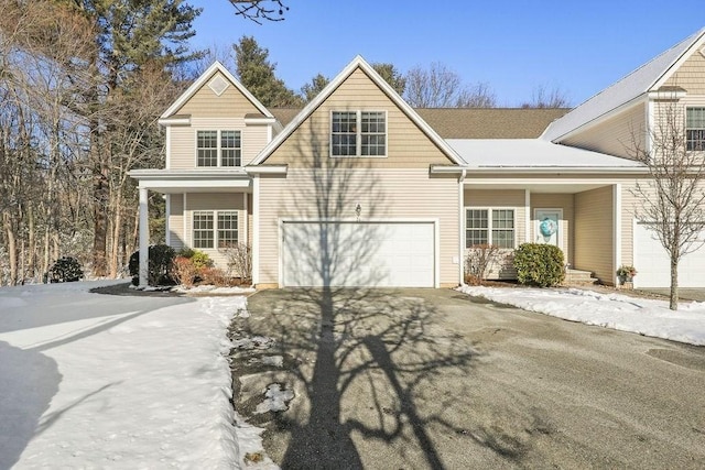
[[[552,244],[520,244],[514,250],[514,267],[521,284],[551,287],[565,277],[563,251]]]

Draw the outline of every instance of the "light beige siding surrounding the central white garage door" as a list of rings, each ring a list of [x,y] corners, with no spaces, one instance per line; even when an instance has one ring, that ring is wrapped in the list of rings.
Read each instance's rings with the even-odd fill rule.
[[[458,284],[458,183],[430,177],[426,168],[290,168],[285,177],[260,177],[260,284],[279,283],[280,218],[379,221],[437,219],[440,284]],[[345,247],[339,247],[345,249]],[[369,253],[360,253],[360,256]]]

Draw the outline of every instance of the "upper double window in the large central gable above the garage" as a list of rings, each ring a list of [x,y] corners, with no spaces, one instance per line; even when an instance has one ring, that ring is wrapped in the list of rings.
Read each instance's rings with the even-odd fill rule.
[[[387,112],[333,111],[332,156],[387,156]]]

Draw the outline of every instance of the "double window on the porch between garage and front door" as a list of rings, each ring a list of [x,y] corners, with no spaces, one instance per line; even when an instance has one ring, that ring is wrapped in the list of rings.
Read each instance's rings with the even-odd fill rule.
[[[465,219],[465,247],[494,244],[514,248],[514,209],[468,208]]]

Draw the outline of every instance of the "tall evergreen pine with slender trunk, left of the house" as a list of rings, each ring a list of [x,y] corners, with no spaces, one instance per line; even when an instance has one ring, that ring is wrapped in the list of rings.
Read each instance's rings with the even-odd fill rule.
[[[187,40],[200,13],[182,0],[58,0],[68,2],[96,30],[95,52],[82,63],[96,79],[84,95],[90,131],[94,190],[94,274],[107,274],[108,207],[110,200],[110,116],[112,96],[132,74],[159,64],[170,68],[194,58]],[[119,134],[120,132],[118,132]],[[130,170],[130,168],[126,168]]]

